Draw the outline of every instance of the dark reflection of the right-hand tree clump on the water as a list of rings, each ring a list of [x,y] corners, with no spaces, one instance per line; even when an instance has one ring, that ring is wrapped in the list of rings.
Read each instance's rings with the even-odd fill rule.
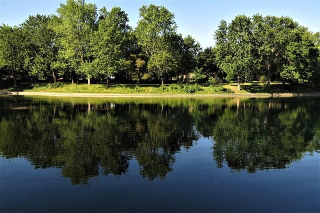
[[[224,109],[212,129],[213,156],[235,170],[284,168],[301,159],[305,151],[319,149],[313,138],[319,123],[318,104],[268,102]],[[314,107],[311,111],[308,107]],[[309,148],[308,148],[309,147]]]

